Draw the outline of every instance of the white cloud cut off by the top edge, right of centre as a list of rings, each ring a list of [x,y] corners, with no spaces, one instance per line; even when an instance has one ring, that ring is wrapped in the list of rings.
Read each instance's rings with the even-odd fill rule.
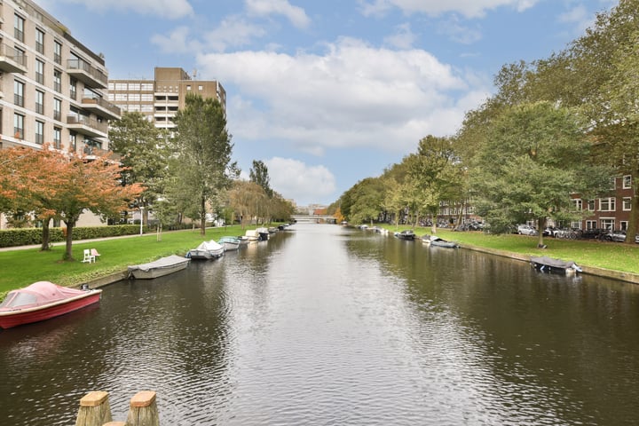
[[[443,13],[459,13],[466,18],[481,18],[485,12],[501,6],[510,6],[523,12],[533,7],[539,0],[359,0],[365,16],[381,16],[398,8],[402,12],[425,13],[439,16]]]

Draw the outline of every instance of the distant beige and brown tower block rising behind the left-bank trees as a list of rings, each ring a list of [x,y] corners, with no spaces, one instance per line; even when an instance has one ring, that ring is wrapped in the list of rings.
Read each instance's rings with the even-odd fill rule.
[[[226,109],[226,91],[215,80],[194,80],[180,67],[155,67],[154,80],[110,80],[109,100],[122,111],[145,114],[155,127],[171,130],[178,109],[184,108],[187,93],[216,98]]]

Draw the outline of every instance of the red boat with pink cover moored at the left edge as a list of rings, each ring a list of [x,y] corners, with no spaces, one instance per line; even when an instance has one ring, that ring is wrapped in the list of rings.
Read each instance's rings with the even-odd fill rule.
[[[100,289],[77,289],[37,281],[28,287],[12,290],[0,304],[0,327],[11,328],[58,317],[90,304],[102,296]]]

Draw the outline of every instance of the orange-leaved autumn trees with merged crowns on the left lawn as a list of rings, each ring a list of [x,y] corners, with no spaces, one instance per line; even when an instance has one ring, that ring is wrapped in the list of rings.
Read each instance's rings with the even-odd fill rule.
[[[67,225],[65,260],[73,260],[73,229],[84,210],[112,216],[127,209],[144,187],[122,185],[122,167],[106,157],[88,160],[45,145],[36,150],[15,147],[0,150],[0,200],[4,205],[34,211],[47,226],[43,248],[48,247],[48,223],[59,218]],[[46,240],[46,241],[45,241]]]

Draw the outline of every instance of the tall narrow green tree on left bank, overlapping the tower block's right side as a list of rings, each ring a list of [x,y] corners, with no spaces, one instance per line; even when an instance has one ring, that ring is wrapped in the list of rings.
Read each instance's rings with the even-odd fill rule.
[[[231,162],[233,144],[226,130],[225,110],[217,99],[189,93],[175,123],[175,181],[171,191],[181,196],[189,215],[200,220],[200,233],[205,235],[208,204],[217,203],[238,174],[236,163]]]

